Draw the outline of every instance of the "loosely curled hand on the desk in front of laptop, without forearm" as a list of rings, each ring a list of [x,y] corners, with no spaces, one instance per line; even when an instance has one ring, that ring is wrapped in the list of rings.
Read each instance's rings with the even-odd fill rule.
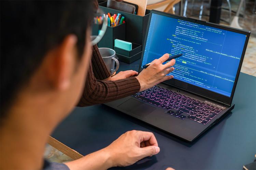
[[[128,131],[104,148],[110,153],[112,166],[128,166],[159,153],[156,138],[151,132]]]

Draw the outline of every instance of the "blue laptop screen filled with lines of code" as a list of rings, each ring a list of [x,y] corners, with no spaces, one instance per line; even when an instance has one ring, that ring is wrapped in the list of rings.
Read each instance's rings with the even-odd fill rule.
[[[231,96],[246,35],[152,14],[141,66],[165,53],[176,58],[174,79]]]

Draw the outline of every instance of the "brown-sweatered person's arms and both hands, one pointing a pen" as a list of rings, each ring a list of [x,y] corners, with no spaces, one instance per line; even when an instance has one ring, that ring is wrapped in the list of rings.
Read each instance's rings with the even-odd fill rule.
[[[168,57],[169,54],[163,55],[163,58]],[[175,60],[173,59],[166,64],[167,66],[162,65],[162,63],[163,61],[155,63],[156,65],[150,65],[139,75],[137,71],[128,70],[120,71],[111,77],[97,45],[93,46],[93,56],[91,57],[83,95],[77,106],[89,106],[114,101],[153,87],[162,81],[172,79],[172,75],[165,75],[174,70],[170,66],[174,65]],[[154,66],[164,67],[153,68]],[[137,77],[134,77],[136,75]]]

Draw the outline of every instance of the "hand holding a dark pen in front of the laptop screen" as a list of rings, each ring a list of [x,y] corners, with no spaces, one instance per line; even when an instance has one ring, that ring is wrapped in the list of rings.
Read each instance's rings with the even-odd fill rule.
[[[146,90],[157,85],[158,83],[173,78],[172,75],[166,76],[166,74],[169,74],[174,70],[174,68],[171,66],[175,64],[175,60],[172,59],[170,62],[162,64],[168,58],[169,54],[164,54],[159,59],[154,60],[150,66],[140,72],[140,74],[136,77],[141,86],[140,91]]]

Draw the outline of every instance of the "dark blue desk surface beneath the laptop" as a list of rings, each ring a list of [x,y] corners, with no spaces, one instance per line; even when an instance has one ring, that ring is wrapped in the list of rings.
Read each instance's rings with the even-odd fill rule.
[[[139,61],[131,65],[121,63],[120,70],[138,67]],[[52,136],[86,155],[108,146],[126,131],[151,131],[158,140],[160,153],[126,169],[242,169],[253,162],[256,154],[256,77],[240,73],[233,103],[232,113],[193,143],[104,105],[75,108]]]

